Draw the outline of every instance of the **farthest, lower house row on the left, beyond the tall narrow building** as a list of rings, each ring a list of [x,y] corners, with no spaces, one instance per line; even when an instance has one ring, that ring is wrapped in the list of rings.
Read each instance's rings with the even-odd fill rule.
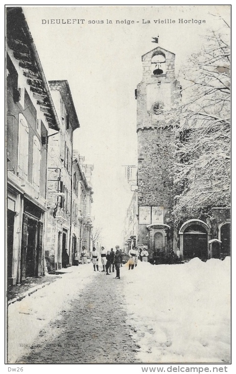
[[[91,174],[93,165],[85,164],[85,158],[73,151],[72,192],[72,264],[81,260],[82,246],[91,252]]]

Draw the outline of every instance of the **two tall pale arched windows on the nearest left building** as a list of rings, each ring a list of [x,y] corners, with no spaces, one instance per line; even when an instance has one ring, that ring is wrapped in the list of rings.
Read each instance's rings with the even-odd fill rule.
[[[34,135],[33,137],[33,171],[32,184],[39,189],[40,181],[40,161],[41,161],[41,145]],[[19,133],[18,133],[18,175],[28,179],[29,166],[29,126],[26,118],[19,114]]]

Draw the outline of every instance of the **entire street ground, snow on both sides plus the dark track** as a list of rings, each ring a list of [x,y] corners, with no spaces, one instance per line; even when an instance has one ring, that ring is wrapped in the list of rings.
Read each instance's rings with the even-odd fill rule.
[[[123,265],[117,282],[91,264],[73,267],[9,306],[9,361],[228,363],[229,271],[229,258],[138,261],[132,271]]]

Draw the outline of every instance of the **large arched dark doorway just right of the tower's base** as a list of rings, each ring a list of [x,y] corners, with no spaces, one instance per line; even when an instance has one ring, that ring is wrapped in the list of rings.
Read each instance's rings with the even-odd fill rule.
[[[208,242],[211,239],[211,233],[205,222],[190,219],[182,224],[179,235],[181,260],[198,257],[205,261],[210,258]]]

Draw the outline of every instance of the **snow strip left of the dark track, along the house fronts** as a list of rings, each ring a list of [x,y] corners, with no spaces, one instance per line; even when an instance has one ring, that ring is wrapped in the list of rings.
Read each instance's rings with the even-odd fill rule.
[[[50,285],[39,289],[29,297],[8,307],[8,363],[30,350],[30,346],[51,321],[61,318],[60,311],[69,310],[72,300],[80,296],[82,289],[97,275],[89,264],[73,266]],[[30,333],[29,333],[30,331]],[[60,331],[61,333],[61,331]]]

